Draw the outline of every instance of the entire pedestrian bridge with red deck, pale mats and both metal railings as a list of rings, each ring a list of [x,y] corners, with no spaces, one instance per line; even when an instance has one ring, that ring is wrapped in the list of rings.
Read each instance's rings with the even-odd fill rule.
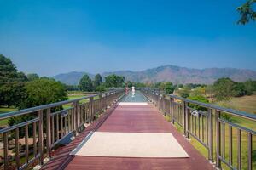
[[[59,106],[66,109],[53,110]],[[0,130],[4,169],[255,169],[255,129],[224,116],[256,122],[255,115],[156,88],[134,95],[117,89],[3,114],[0,120],[26,114],[35,116]]]

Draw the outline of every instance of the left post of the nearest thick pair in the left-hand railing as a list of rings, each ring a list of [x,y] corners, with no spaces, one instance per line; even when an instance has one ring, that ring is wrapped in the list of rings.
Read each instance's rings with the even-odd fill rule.
[[[39,153],[39,164],[44,163],[44,139],[43,139],[43,111],[38,111],[38,153]]]

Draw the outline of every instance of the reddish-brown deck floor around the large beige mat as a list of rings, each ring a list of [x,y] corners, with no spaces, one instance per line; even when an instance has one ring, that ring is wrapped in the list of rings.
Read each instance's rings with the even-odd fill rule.
[[[119,133],[172,133],[189,158],[131,158],[70,156],[90,131]],[[113,139],[114,140],[114,139]],[[104,144],[102,142],[102,144]],[[44,169],[213,169],[177,129],[153,105],[115,105],[104,113],[72,143],[55,150],[54,158]]]

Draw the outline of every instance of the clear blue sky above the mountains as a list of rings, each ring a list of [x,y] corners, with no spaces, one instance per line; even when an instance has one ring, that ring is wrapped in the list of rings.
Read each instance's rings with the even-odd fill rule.
[[[256,70],[244,0],[0,0],[0,54],[20,71],[140,71],[159,65]]]

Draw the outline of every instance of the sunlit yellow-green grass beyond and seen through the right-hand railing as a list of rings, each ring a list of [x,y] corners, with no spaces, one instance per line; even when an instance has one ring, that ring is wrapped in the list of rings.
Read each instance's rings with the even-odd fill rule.
[[[246,111],[248,113],[256,113],[256,95],[252,95],[252,96],[243,96],[240,98],[234,98],[231,99],[228,102],[218,102],[217,105],[221,105],[221,106],[225,106],[231,109],[236,109],[239,111]],[[170,116],[166,116],[166,120],[170,121]],[[214,118],[213,118],[214,120]],[[253,121],[249,121],[240,117],[235,117],[232,116],[231,120],[240,125],[241,127],[247,127],[249,129],[253,129],[254,131],[256,131],[256,126],[255,126],[255,122]],[[177,127],[177,130],[180,133],[183,133],[183,128],[180,127],[179,125],[177,125],[177,123],[175,123],[174,125],[175,127]],[[214,159],[216,156],[216,131],[215,131],[215,124],[213,123],[213,155],[214,155]],[[232,141],[233,141],[233,159],[232,161],[234,162],[234,167],[236,167],[237,165],[237,130],[234,127],[233,131],[232,131]],[[229,160],[229,127],[226,125],[225,126],[225,159],[228,161]],[[205,156],[206,158],[208,157],[208,151],[207,149],[200,144],[196,139],[194,139],[193,137],[190,138],[190,143],[201,152],[201,154],[203,156]],[[242,162],[242,169],[246,170],[247,169],[247,133],[242,132],[241,133],[241,162]],[[222,167],[223,169],[230,169],[229,167],[225,166],[224,163],[222,163]],[[256,169],[256,137],[253,137],[253,169]]]

